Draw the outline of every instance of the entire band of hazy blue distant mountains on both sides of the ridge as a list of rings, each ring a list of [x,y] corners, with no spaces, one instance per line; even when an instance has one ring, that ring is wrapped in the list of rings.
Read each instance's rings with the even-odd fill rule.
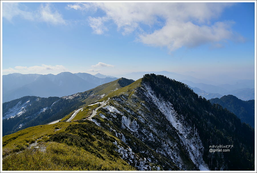
[[[195,93],[206,99],[220,98],[223,95],[235,95],[242,100],[254,99],[254,80],[235,80],[230,84],[211,85],[211,81],[198,79],[189,75],[173,72],[133,72],[115,75],[137,80],[144,74],[159,74],[187,84]],[[3,102],[23,96],[62,97],[77,92],[83,92],[96,86],[114,81],[118,78],[103,74],[62,72],[57,75],[19,74],[3,75]]]

